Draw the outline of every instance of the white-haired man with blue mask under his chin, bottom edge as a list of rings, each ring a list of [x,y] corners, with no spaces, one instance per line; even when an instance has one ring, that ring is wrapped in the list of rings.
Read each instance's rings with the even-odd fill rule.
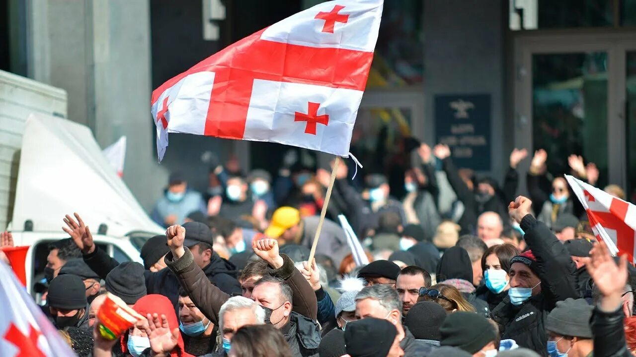
[[[247,325],[263,325],[265,310],[254,300],[242,296],[230,297],[219,311],[219,330],[223,344],[217,347],[218,356],[227,356],[232,347],[232,337],[239,328]]]

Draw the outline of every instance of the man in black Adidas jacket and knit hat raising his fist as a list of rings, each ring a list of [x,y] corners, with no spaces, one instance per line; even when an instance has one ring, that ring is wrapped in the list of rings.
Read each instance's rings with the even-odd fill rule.
[[[508,297],[492,311],[501,338],[547,356],[546,316],[556,302],[576,299],[576,267],[567,251],[545,224],[530,215],[532,201],[519,196],[510,203],[510,216],[525,232],[530,250],[510,260]]]

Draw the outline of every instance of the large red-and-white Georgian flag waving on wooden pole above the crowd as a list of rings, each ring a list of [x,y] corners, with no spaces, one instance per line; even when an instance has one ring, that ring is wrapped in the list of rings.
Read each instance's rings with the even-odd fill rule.
[[[318,4],[163,83],[151,100],[159,160],[168,133],[278,142],[347,156],[382,4]]]

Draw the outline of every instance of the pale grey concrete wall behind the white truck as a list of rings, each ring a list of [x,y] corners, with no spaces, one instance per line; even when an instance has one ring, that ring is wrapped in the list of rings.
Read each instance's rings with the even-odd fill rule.
[[[102,147],[127,135],[124,181],[149,210],[167,180],[152,150],[149,1],[28,0],[23,9],[28,76],[66,90],[68,119]]]

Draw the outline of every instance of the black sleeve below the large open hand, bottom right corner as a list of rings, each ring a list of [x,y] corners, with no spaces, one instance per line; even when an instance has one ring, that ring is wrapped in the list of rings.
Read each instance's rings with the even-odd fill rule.
[[[590,319],[594,336],[594,357],[632,357],[625,346],[623,318],[625,316],[621,307],[611,313],[594,308]]]

